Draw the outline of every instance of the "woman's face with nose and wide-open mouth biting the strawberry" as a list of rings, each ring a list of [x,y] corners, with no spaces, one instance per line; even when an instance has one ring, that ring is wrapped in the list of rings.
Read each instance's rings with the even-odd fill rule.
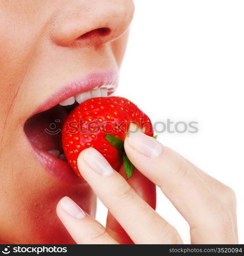
[[[63,196],[95,215],[91,188],[58,159],[74,107],[58,103],[113,91],[133,13],[131,0],[0,0],[2,243],[72,243],[56,217]]]

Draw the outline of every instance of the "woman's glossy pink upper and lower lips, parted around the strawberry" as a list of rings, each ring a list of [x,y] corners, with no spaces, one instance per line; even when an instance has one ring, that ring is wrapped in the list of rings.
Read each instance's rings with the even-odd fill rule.
[[[48,100],[46,100],[45,103],[41,104],[32,113],[31,116],[49,110],[61,101],[68,99],[74,95],[87,92],[93,89],[106,88],[108,90],[108,95],[110,95],[118,86],[118,80],[119,74],[117,70],[107,70],[104,72],[95,72],[90,75],[87,75],[82,79],[75,80],[61,88],[56,94],[52,95]],[[28,141],[30,142],[29,139]],[[79,178],[74,173],[68,162],[60,160],[50,155],[46,151],[39,150],[31,142],[30,144],[33,150],[33,154],[35,155],[39,163],[42,165],[42,167],[48,171],[48,173],[50,173],[51,175],[58,178],[60,181],[67,184],[77,185],[86,183],[86,181]]]

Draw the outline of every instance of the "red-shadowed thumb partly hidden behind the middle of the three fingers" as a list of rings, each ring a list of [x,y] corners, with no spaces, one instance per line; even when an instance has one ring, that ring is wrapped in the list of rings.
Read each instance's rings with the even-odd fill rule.
[[[124,166],[121,167],[119,174],[126,178]],[[133,175],[127,182],[145,202],[147,202],[153,209],[156,209],[156,186],[150,180],[135,169]],[[133,243],[128,234],[109,211],[107,215],[106,229],[110,236],[120,244]]]

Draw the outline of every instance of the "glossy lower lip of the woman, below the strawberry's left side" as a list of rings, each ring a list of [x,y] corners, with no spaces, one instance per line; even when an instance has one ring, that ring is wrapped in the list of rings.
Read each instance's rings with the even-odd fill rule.
[[[42,167],[45,168],[48,173],[59,179],[61,182],[69,185],[86,183],[86,181],[79,178],[73,172],[68,162],[58,159],[45,151],[39,150],[34,146],[32,146],[32,148],[35,157],[40,162]]]

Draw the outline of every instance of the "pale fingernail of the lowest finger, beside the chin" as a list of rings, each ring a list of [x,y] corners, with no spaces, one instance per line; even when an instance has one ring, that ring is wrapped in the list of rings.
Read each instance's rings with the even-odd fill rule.
[[[62,198],[60,201],[60,206],[64,211],[67,212],[67,214],[76,219],[82,219],[85,217],[85,212],[69,197]]]

